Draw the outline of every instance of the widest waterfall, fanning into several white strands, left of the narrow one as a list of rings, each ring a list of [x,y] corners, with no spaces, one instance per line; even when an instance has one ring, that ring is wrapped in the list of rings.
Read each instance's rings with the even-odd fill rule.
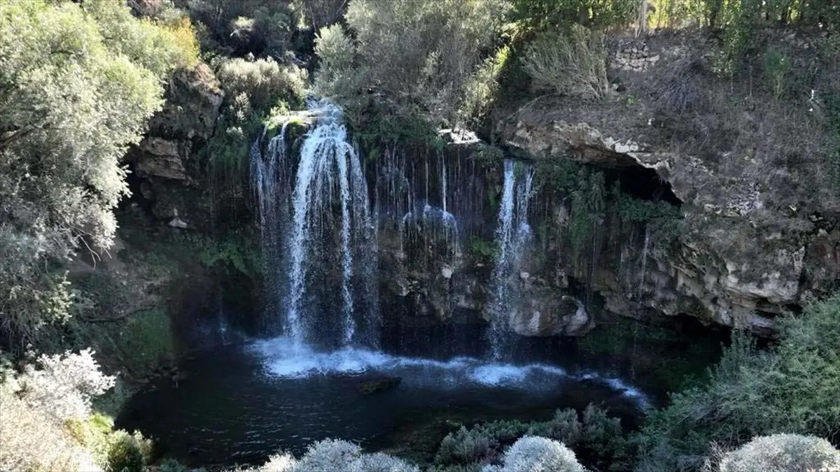
[[[261,139],[251,153],[269,309],[285,313],[284,332],[298,346],[375,347],[376,241],[359,153],[339,108],[312,102],[309,110],[318,118],[297,166],[286,156],[285,124],[265,154]]]

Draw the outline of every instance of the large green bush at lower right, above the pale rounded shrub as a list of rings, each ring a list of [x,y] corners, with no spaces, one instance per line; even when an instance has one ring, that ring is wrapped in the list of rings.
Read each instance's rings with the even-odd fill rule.
[[[780,320],[780,343],[759,351],[735,333],[707,385],[682,391],[648,417],[636,438],[640,470],[697,469],[711,443],[778,431],[840,434],[840,295]]]

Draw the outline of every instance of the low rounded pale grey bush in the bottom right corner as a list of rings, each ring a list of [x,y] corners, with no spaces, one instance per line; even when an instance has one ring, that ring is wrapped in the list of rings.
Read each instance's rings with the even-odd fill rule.
[[[753,438],[723,455],[720,472],[840,470],[840,451],[825,439],[798,434]]]

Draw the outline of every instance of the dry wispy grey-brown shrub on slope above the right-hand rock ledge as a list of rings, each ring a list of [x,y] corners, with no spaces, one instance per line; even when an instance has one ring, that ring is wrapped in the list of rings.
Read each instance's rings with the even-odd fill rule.
[[[522,66],[535,85],[561,94],[600,98],[609,91],[603,36],[579,25],[566,34],[538,35]]]

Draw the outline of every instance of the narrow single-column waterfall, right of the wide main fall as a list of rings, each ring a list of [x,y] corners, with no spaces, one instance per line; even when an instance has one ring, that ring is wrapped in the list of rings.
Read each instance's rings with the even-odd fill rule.
[[[501,359],[508,337],[508,320],[519,299],[522,255],[531,241],[528,205],[533,197],[533,166],[519,176],[517,164],[505,161],[504,183],[496,228],[498,254],[492,275],[491,326],[489,338],[494,359]]]

